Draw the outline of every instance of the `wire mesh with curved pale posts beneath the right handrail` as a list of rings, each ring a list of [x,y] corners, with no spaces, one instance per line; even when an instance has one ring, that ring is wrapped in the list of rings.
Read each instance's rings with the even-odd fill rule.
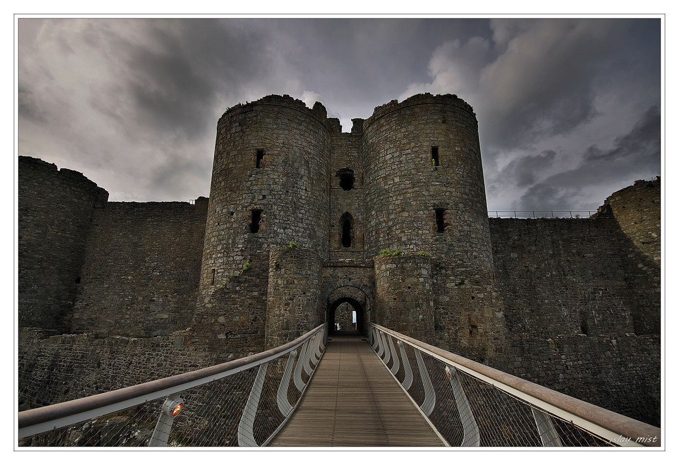
[[[375,352],[382,354],[383,362],[387,360],[386,367],[449,445],[619,445],[554,413],[543,411],[481,377],[456,369],[454,362],[445,362],[445,358],[424,352],[398,337],[380,330],[375,331],[375,337],[380,344]]]

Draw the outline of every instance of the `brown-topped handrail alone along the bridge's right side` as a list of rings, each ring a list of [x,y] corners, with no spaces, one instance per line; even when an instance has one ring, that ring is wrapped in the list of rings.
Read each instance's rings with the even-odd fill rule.
[[[388,352],[389,346],[382,342],[384,341],[384,334],[388,334],[397,339],[397,341],[403,341],[403,343],[407,343],[417,351],[443,362],[446,367],[454,367],[480,382],[491,385],[514,398],[520,399],[538,411],[547,412],[553,415],[553,417],[563,419],[582,430],[591,432],[608,443],[614,443],[614,445],[661,446],[660,428],[534,384],[526,381],[526,379],[509,375],[447,350],[430,346],[427,343],[397,333],[378,324],[370,323],[370,326],[373,331],[378,331],[378,334],[382,333],[382,337],[373,337],[371,333],[371,343],[373,343],[373,348],[375,348],[375,352],[378,352],[378,354],[379,352]],[[395,353],[395,350],[392,350],[392,352]],[[380,356],[380,358],[383,358],[384,361],[386,357]],[[449,376],[449,373],[447,375]],[[410,375],[411,378],[412,376]],[[540,434],[542,435],[543,432],[540,432]],[[654,438],[655,441],[650,441],[650,439]],[[638,441],[639,439],[646,439],[646,441]]]

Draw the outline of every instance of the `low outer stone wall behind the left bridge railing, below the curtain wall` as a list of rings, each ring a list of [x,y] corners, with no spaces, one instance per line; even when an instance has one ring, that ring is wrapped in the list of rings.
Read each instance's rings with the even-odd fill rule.
[[[19,410],[71,401],[223,362],[196,346],[191,331],[151,338],[100,333],[45,337],[20,329]]]

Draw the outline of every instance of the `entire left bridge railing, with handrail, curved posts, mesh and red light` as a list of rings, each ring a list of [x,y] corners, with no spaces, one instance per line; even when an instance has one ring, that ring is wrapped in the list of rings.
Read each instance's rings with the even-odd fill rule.
[[[301,401],[327,323],[278,348],[18,414],[19,446],[264,446]]]

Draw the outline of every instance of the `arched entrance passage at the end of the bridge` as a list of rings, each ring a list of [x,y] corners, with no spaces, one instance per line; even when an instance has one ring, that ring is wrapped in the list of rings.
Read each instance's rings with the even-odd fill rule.
[[[362,289],[355,286],[341,286],[331,292],[327,299],[326,319],[329,334],[340,331],[358,331],[367,334],[370,303]]]

